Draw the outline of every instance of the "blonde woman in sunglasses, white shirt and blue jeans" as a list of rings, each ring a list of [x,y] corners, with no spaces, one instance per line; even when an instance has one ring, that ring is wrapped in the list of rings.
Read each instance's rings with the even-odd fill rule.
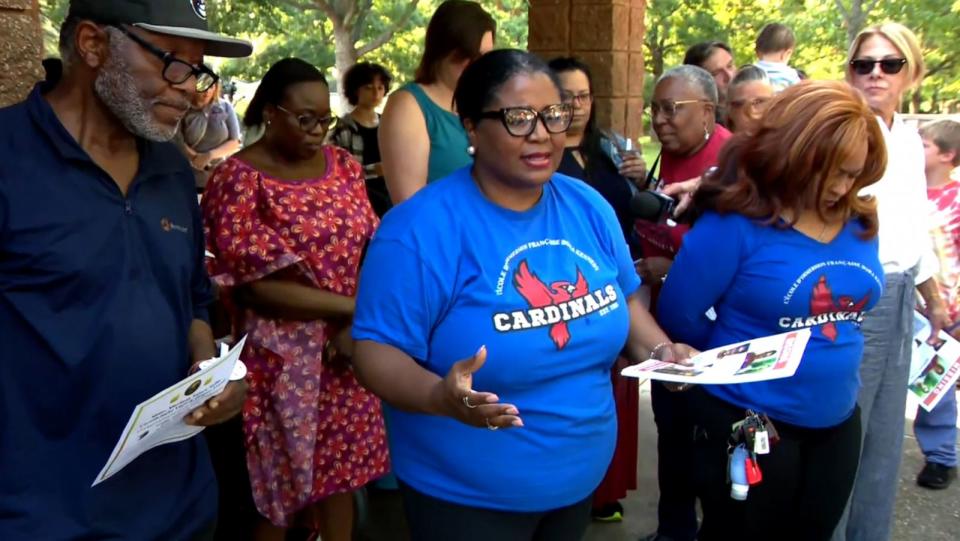
[[[920,83],[923,73],[920,42],[901,24],[866,28],[850,45],[847,81],[876,113],[889,160],[883,178],[868,192],[879,205],[886,290],[863,323],[867,342],[859,396],[863,451],[849,522],[837,530],[840,540],[890,538],[916,293],[923,297],[934,335],[950,326],[933,278],[938,263],[924,219],[928,210],[923,142],[898,114],[904,94]]]

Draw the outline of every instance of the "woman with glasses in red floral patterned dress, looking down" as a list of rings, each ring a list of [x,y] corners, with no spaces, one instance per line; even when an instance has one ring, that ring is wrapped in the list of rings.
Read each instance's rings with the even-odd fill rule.
[[[264,137],[221,164],[203,200],[250,392],[243,411],[256,539],[295,521],[349,540],[353,492],[389,468],[380,402],[350,366],[361,254],[378,222],[361,166],[324,146],[323,75],[298,59],[267,72],[244,122]]]

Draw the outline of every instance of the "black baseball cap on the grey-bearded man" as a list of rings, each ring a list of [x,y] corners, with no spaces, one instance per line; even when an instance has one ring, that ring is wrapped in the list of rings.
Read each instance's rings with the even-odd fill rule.
[[[253,53],[249,41],[228,38],[207,29],[204,0],[70,0],[72,17],[100,24],[129,24],[157,34],[206,43],[204,54],[240,58]]]

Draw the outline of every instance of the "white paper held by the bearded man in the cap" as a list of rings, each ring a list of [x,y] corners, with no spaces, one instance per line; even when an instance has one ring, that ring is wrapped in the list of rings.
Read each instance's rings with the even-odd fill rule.
[[[223,391],[246,340],[243,337],[225,354],[206,361],[209,364],[205,368],[138,404],[91,486],[106,481],[154,447],[182,441],[202,431],[202,426],[190,426],[183,418]]]

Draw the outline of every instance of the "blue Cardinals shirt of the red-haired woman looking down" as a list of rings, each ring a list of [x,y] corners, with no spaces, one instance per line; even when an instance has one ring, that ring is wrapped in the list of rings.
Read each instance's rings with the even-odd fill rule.
[[[683,239],[658,300],[671,338],[701,349],[811,328],[791,378],[708,385],[742,408],[810,428],[853,412],[863,353],[860,323],[883,292],[877,239],[857,221],[820,243],[793,228],[708,212]],[[716,311],[716,321],[705,312]]]

